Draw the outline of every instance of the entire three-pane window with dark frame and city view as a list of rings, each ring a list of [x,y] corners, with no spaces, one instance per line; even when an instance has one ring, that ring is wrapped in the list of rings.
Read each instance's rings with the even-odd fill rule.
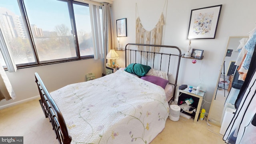
[[[18,67],[93,58],[88,4],[73,0],[1,1],[0,28]]]

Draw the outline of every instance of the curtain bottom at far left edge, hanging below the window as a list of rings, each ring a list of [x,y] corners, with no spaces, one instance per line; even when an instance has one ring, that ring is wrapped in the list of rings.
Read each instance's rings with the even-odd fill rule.
[[[12,85],[4,71],[4,68],[0,64],[0,101],[3,99],[14,100],[15,98],[16,95],[12,89]]]

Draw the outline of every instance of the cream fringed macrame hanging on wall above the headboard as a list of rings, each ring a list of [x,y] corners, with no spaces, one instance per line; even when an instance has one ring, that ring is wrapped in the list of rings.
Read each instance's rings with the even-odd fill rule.
[[[167,1],[165,2],[165,5],[167,7]],[[164,7],[165,7],[164,5]],[[136,3],[136,14],[137,14],[137,3]],[[163,9],[164,11],[164,9]],[[167,8],[166,8],[167,11]],[[136,16],[137,17],[137,16]],[[158,23],[156,26],[150,30],[147,31],[143,28],[141,22],[140,22],[140,17],[138,16],[136,18],[136,44],[156,44],[156,45],[161,45],[162,44],[162,33],[163,33],[163,25],[164,25],[164,14],[162,12]],[[142,51],[149,51],[149,52],[159,52],[159,47],[150,47],[150,46],[138,46],[138,50]],[[147,54],[146,52],[143,52],[142,57],[143,58],[153,58],[154,54],[149,53]]]

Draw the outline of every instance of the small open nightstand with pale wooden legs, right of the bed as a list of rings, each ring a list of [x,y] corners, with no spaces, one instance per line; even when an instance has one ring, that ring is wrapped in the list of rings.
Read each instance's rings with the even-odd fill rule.
[[[175,96],[175,104],[178,104],[178,102],[184,101],[187,98],[192,98],[194,100],[194,102],[191,105],[196,108],[196,112],[193,112],[192,114],[184,112],[185,114],[194,117],[194,123],[196,123],[197,120],[198,120],[198,116],[199,116],[199,113],[200,113],[200,108],[201,108],[201,105],[202,105],[202,100],[203,100],[203,97],[206,94],[206,92],[196,92],[195,89],[196,89],[196,87],[193,87],[192,92],[189,92],[188,88],[186,88],[184,90],[179,90],[178,89],[177,94]]]

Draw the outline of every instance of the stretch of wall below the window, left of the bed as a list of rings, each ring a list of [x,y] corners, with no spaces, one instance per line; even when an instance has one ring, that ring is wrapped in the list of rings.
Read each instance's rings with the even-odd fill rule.
[[[16,94],[16,99],[8,101],[5,99],[1,100],[0,109],[39,96],[35,83],[35,72],[42,78],[48,91],[52,92],[68,84],[86,81],[86,74],[91,72],[95,74],[96,78],[101,77],[104,72],[103,63],[103,59],[87,59],[36,66],[32,68],[22,68],[18,69],[17,72],[12,73],[6,71]]]

